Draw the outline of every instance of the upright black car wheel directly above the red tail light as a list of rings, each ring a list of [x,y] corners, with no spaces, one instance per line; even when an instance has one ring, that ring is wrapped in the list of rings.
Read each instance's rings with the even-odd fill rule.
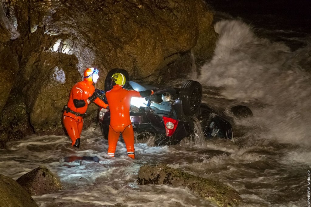
[[[202,101],[202,85],[197,81],[188,80],[180,88],[178,98],[182,101],[183,113],[192,116],[200,108]]]

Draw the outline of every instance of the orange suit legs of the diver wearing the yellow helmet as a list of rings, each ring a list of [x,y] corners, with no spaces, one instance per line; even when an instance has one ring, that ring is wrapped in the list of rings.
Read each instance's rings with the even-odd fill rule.
[[[122,137],[126,145],[126,150],[128,151],[128,156],[131,157],[132,159],[135,159],[134,131],[132,124],[128,125],[127,127],[123,126],[111,127],[109,125],[108,155],[114,157],[120,133],[122,133]]]

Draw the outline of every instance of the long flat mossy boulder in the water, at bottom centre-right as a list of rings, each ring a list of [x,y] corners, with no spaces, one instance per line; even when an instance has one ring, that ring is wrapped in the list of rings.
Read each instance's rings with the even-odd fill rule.
[[[144,165],[138,173],[138,184],[169,184],[188,187],[197,195],[215,202],[219,206],[234,206],[241,203],[239,193],[220,182],[212,181],[169,168],[165,164]]]

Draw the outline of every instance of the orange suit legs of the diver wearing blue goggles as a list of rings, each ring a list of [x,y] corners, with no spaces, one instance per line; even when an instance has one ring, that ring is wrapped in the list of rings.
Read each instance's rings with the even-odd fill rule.
[[[83,118],[78,117],[76,120],[72,117],[63,116],[63,124],[66,128],[68,136],[72,140],[71,145],[74,145],[76,140],[80,138],[83,128]]]

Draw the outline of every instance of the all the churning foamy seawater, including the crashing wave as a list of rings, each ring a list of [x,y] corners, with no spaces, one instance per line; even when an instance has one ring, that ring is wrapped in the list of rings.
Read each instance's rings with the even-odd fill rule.
[[[166,163],[186,173],[222,182],[237,190],[240,206],[306,206],[311,168],[310,44],[292,51],[281,42],[258,38],[241,21],[221,21],[215,56],[200,69],[203,101],[228,108],[244,104],[254,116],[234,118],[235,143],[211,139],[157,147],[154,137],[136,143],[136,157],[118,143],[116,157],[99,129],[84,129],[80,149],[66,136],[30,136],[0,150],[0,173],[17,179],[44,165],[64,189],[33,196],[48,206],[215,206],[187,188],[137,184],[144,164]],[[273,33],[271,34],[273,35]],[[311,35],[300,37],[310,41]],[[295,39],[297,41],[297,39]],[[100,162],[64,162],[66,156],[98,156]]]

